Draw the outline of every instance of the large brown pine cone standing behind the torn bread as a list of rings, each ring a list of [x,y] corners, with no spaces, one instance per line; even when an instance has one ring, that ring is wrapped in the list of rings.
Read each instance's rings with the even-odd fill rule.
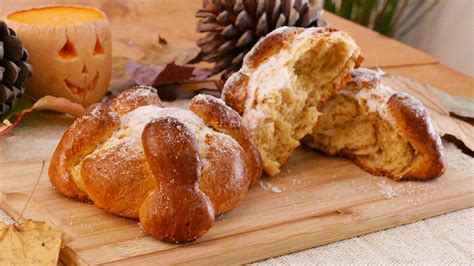
[[[282,26],[325,26],[322,10],[307,0],[204,0],[196,13],[201,52],[190,63],[215,63],[225,81],[242,66],[245,54],[267,33]]]

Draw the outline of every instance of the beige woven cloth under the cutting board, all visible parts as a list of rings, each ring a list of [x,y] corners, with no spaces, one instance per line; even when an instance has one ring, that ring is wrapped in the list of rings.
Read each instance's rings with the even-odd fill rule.
[[[0,137],[0,163],[50,157],[72,121],[47,112],[27,115],[11,133]],[[450,166],[474,176],[474,159],[452,144],[445,146]],[[474,264],[473,218],[474,208],[465,209],[256,264]],[[8,220],[1,210],[0,220]]]

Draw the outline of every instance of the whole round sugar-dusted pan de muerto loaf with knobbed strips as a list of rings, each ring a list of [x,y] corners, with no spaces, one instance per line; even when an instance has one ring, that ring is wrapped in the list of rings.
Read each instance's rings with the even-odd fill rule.
[[[239,114],[223,101],[198,95],[189,109],[160,107],[148,87],[91,106],[56,148],[51,183],[68,197],[140,219],[158,239],[199,238],[239,204],[262,166]]]

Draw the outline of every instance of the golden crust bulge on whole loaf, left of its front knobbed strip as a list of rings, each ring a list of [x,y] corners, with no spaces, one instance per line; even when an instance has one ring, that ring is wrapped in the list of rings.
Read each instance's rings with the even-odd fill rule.
[[[146,159],[124,144],[85,158],[81,176],[87,194],[97,206],[135,219],[139,217],[141,204],[156,186]]]

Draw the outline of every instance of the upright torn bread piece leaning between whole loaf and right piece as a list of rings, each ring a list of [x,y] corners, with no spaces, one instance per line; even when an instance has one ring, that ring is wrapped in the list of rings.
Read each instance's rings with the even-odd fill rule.
[[[278,28],[246,55],[222,98],[252,132],[266,173],[280,171],[361,61],[355,41],[330,28]]]

